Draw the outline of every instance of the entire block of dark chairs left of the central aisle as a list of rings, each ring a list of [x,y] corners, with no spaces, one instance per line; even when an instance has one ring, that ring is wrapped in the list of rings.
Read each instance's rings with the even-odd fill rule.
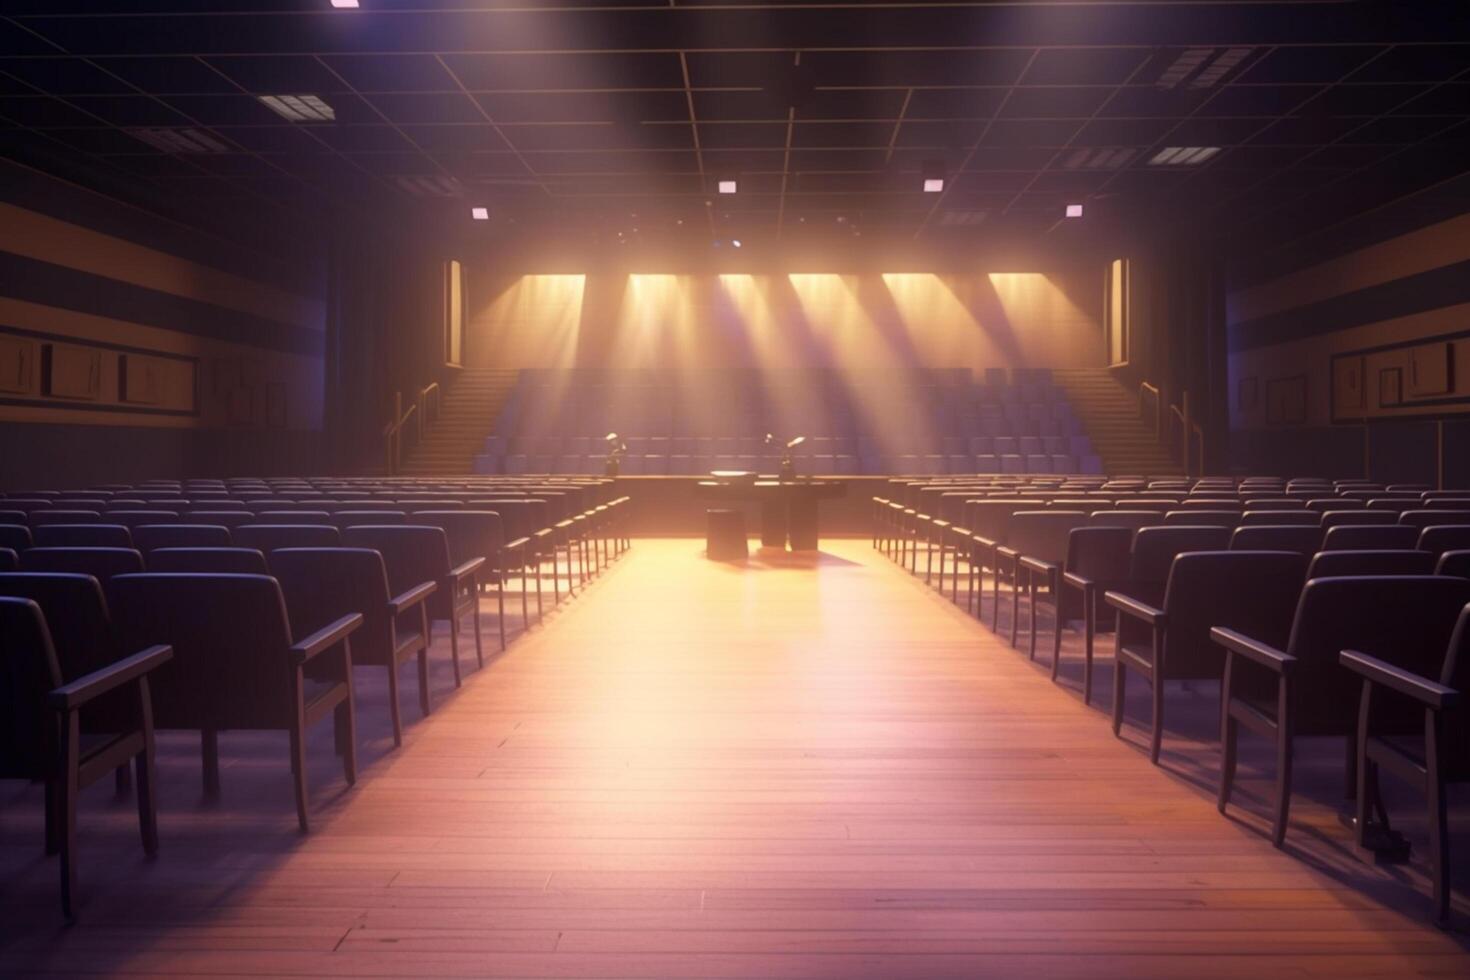
[[[573,595],[628,548],[628,502],[612,480],[510,478],[159,480],[0,495],[0,691],[18,720],[0,733],[0,777],[47,786],[65,912],[79,788],[112,770],[122,788],[137,761],[144,848],[157,846],[154,727],[200,733],[207,793],[219,792],[220,730],[288,732],[306,830],[313,723],[334,718],[344,776],[356,779],[351,667],[388,669],[400,743],[397,670],[417,661],[428,714],[434,623],[448,623],[457,686],[466,617],[484,666],[481,592],[495,594],[504,649],[509,586],[519,579],[528,627],[532,582],[539,617],[547,577],[556,599],[563,583]]]

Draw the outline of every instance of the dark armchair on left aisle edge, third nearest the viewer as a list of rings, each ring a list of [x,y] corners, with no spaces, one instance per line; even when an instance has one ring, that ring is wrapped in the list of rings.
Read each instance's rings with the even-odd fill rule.
[[[270,552],[270,572],[281,582],[291,626],[312,633],[343,616],[360,613],[353,633],[353,666],[385,667],[392,743],[403,745],[398,667],[419,666],[419,710],[429,714],[429,613],[437,588],[420,582],[400,595],[388,591],[382,555],[368,548],[281,548]],[[406,624],[412,623],[412,627]]]

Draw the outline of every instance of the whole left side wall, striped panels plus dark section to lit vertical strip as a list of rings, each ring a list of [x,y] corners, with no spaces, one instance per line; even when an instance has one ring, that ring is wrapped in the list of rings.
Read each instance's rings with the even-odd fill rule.
[[[0,489],[365,472],[448,381],[451,244],[191,217],[0,159]]]

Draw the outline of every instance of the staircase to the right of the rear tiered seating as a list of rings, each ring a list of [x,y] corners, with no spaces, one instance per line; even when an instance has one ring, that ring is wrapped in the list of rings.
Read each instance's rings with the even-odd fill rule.
[[[1183,466],[1154,438],[1138,414],[1138,392],[1117,382],[1105,367],[1053,370],[1067,400],[1102,458],[1102,472],[1135,476],[1182,476]]]

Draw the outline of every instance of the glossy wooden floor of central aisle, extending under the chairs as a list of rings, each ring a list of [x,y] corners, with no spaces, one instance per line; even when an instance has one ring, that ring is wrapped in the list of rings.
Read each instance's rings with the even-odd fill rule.
[[[866,541],[744,569],[700,551],[635,541],[454,693],[441,636],[435,713],[404,671],[395,752],[360,670],[362,777],[313,733],[307,836],[284,736],[226,733],[213,804],[196,739],[162,736],[162,852],[90,790],[74,927],[40,792],[4,783],[0,974],[1470,974],[1421,857],[1351,855],[1335,746],[1302,760],[1283,854],[1263,754],[1247,813],[1214,810],[1211,691],[1170,692],[1189,708],[1155,768],[1080,702],[1076,642],[1053,685]]]

